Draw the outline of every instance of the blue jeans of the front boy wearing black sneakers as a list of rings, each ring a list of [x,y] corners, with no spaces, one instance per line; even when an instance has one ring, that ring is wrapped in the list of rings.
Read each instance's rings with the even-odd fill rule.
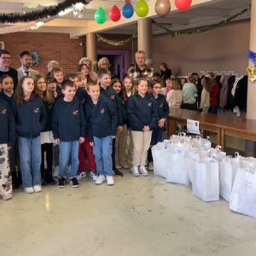
[[[79,141],[61,142],[59,145],[59,174],[58,177],[66,177],[68,161],[71,156],[70,178],[76,177],[79,170]]]

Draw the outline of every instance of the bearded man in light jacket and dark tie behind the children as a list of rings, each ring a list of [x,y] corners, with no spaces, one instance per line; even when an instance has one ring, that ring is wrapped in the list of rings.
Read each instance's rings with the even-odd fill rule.
[[[24,50],[20,53],[20,63],[21,67],[17,69],[18,72],[18,81],[25,76],[32,77],[35,79],[39,74],[37,70],[32,69],[32,55],[28,50]]]

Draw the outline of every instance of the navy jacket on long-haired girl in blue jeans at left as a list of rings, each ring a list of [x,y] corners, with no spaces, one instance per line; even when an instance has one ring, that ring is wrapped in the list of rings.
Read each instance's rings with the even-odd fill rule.
[[[15,115],[16,132],[19,137],[38,137],[40,132],[44,131],[47,113],[44,102],[38,96],[32,95],[28,101],[23,101],[20,106],[14,101],[12,108]]]

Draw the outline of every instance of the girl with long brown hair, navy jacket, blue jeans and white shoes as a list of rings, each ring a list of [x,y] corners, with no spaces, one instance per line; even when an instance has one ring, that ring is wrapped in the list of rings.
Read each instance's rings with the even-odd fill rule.
[[[34,80],[23,77],[15,90],[13,112],[20,152],[22,185],[26,193],[40,192],[41,139],[47,113],[44,102],[34,94]]]

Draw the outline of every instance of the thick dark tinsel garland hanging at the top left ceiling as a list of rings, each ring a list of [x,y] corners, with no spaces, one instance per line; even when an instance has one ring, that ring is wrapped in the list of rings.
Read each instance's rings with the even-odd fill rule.
[[[52,16],[58,15],[61,11],[72,7],[76,3],[87,4],[91,0],[65,0],[62,3],[58,3],[55,6],[44,7],[44,9],[27,11],[25,14],[10,13],[1,14],[0,23],[17,23],[28,22],[34,20],[49,19]]]

